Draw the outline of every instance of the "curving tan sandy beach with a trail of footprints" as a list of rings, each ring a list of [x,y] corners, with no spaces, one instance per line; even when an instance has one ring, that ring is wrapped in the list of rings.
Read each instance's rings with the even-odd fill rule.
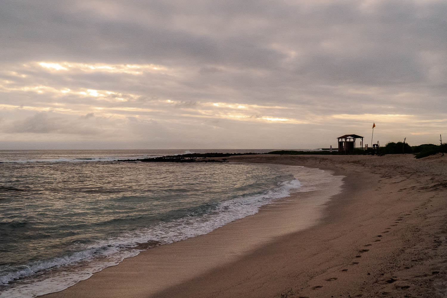
[[[447,155],[227,160],[318,168],[333,179],[43,297],[445,297]],[[321,203],[311,224],[299,221],[307,206],[296,196]]]

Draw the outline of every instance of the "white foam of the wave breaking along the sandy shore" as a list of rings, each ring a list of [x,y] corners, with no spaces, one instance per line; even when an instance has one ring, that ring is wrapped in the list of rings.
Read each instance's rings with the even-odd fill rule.
[[[270,204],[275,199],[288,197],[291,190],[300,187],[301,184],[298,180],[284,181],[279,183],[277,188],[261,194],[236,197],[232,200],[219,202],[214,209],[201,216],[190,214],[184,218],[161,222],[155,227],[97,243],[69,256],[27,264],[21,269],[0,276],[0,282],[5,285],[17,279],[31,277],[33,278],[32,284],[17,284],[17,286],[4,290],[0,297],[32,298],[64,290],[81,280],[89,278],[95,272],[116,265],[127,257],[138,255],[142,251],[135,249],[139,243],[156,241],[160,244],[166,244],[207,234],[229,222],[256,214],[261,206]],[[82,270],[59,270],[49,276],[38,276],[38,274],[44,273],[48,269],[63,269],[64,266],[69,268],[68,265],[79,264],[82,261],[88,261],[88,265],[83,266]]]

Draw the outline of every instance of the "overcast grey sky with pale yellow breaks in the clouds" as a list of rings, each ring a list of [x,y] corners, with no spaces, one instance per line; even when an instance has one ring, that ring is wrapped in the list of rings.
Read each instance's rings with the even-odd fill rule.
[[[445,0],[1,0],[0,149],[447,140]]]

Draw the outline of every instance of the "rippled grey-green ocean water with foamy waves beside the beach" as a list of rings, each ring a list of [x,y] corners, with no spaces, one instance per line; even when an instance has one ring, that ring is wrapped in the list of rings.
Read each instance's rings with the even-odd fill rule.
[[[309,172],[300,179],[274,164],[117,161],[268,151],[0,151],[0,297],[66,289],[143,250],[207,234],[327,179]]]

